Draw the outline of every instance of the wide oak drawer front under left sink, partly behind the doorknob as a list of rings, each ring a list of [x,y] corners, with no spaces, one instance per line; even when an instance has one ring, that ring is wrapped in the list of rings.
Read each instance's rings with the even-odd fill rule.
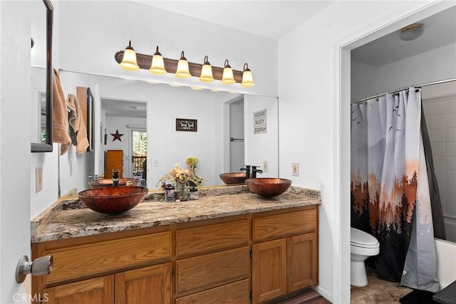
[[[171,256],[171,232],[45,251],[53,256],[45,285],[147,265]]]

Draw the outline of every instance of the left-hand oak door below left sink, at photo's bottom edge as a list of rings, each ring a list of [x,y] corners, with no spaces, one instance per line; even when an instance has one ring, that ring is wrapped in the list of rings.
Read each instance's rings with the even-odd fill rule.
[[[49,304],[112,304],[114,303],[114,276],[46,288],[41,294],[43,303]]]

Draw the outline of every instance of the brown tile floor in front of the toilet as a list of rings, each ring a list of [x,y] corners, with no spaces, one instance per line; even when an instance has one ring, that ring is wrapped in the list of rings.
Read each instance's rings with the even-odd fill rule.
[[[371,268],[367,268],[367,272],[368,285],[366,287],[351,286],[351,304],[400,303],[399,299],[412,291],[410,288],[398,286],[399,283],[380,280]]]

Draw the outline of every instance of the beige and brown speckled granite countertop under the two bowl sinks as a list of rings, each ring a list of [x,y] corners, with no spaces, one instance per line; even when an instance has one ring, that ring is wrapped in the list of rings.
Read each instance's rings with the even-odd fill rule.
[[[321,203],[320,192],[290,187],[273,198],[249,192],[245,186],[200,189],[199,199],[160,201],[162,192],[150,192],[138,206],[123,214],[99,214],[77,198],[56,201],[31,221],[31,242],[53,241],[107,232],[215,219],[224,216],[288,209]]]

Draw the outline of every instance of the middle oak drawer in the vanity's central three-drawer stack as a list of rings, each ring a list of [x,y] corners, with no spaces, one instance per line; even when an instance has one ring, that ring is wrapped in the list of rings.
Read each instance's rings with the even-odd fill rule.
[[[176,261],[177,295],[249,277],[249,246]]]

